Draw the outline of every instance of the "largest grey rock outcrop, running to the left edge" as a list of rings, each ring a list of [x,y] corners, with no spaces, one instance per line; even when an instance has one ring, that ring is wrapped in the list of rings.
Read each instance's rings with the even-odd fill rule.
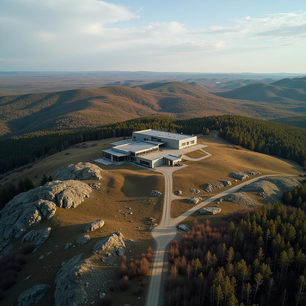
[[[11,241],[21,238],[43,218],[51,218],[56,207],[76,207],[92,189],[80,181],[52,181],[22,192],[9,201],[0,217],[0,251]]]

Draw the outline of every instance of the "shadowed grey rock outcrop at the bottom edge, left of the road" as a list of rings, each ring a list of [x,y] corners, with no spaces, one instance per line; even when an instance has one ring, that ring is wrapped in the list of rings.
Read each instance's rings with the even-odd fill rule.
[[[81,259],[82,254],[67,261],[55,277],[55,306],[83,306],[88,302],[92,268]]]

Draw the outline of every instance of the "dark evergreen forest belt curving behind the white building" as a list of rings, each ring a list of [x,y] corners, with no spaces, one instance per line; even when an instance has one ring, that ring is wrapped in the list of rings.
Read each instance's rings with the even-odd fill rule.
[[[235,115],[177,119],[142,117],[92,129],[39,131],[0,140],[0,173],[19,168],[74,144],[111,137],[131,136],[133,131],[160,129],[184,134],[219,135],[233,144],[257,152],[292,159],[305,166],[306,130],[272,121]]]

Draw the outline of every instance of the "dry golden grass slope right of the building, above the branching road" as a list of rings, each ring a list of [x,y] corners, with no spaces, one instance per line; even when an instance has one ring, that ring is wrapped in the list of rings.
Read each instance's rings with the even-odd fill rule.
[[[184,161],[184,163],[189,166],[174,172],[174,191],[182,190],[184,196],[200,196],[205,200],[211,197],[209,193],[204,191],[207,183],[216,183],[221,179],[226,179],[232,182],[232,187],[241,184],[240,180],[234,182],[231,176],[231,173],[234,171],[256,170],[261,172],[261,174],[257,176],[261,176],[265,174],[298,175],[301,170],[301,167],[295,162],[246,149],[237,150],[233,148],[232,144],[224,139],[218,138],[217,140],[211,140],[211,138],[216,139],[216,136],[201,136],[198,138],[198,143],[208,144],[209,146],[204,148],[204,150],[213,155],[201,161]],[[193,151],[190,154],[195,152],[196,151]],[[252,176],[251,178],[253,177],[256,176]],[[203,192],[200,195],[192,194],[189,191],[190,188],[200,189],[203,190]],[[217,189],[212,195],[220,193],[225,189],[227,188]],[[192,205],[193,204],[188,204],[185,199],[172,201],[171,217],[178,217],[183,212],[189,210]],[[222,206],[224,205],[225,204],[222,204]],[[225,211],[225,213],[228,212]],[[205,218],[207,218],[207,216],[205,216]]]

